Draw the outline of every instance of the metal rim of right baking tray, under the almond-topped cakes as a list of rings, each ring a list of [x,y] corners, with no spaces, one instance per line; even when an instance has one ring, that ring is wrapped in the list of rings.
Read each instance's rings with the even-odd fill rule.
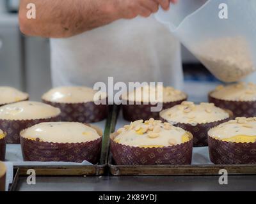
[[[120,106],[114,106],[111,126],[116,127],[120,120]],[[118,118],[119,116],[119,118]],[[121,119],[122,120],[122,119]],[[129,122],[127,122],[128,124]],[[120,127],[118,127],[120,128]],[[113,128],[115,129],[115,128]],[[112,129],[112,130],[113,130]],[[145,165],[145,166],[123,166],[116,165],[109,151],[109,171],[115,176],[142,176],[142,175],[219,175],[221,169],[227,170],[229,175],[256,175],[256,164],[191,164],[182,166],[172,165]]]

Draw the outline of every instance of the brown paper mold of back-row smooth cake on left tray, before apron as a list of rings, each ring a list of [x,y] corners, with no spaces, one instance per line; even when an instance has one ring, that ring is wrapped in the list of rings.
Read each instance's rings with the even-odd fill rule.
[[[92,123],[108,117],[108,105],[95,105],[93,101],[88,103],[53,103],[44,99],[42,101],[60,108],[61,121]]]

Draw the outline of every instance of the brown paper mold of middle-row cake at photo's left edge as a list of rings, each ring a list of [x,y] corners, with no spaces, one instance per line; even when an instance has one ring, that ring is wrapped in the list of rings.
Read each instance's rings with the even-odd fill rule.
[[[60,115],[47,119],[34,120],[1,120],[0,129],[6,132],[6,143],[20,143],[20,131],[34,126],[41,122],[56,122],[60,120]]]

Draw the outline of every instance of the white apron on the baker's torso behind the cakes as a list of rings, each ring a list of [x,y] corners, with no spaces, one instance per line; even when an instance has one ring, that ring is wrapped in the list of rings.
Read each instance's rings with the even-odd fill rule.
[[[53,85],[163,82],[182,88],[180,43],[151,16],[51,39]]]

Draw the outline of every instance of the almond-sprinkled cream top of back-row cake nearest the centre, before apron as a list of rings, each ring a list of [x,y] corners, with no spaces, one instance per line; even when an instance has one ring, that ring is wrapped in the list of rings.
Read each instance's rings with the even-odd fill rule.
[[[128,95],[128,96],[127,96]],[[155,86],[143,86],[135,89],[128,94],[123,94],[122,99],[129,101],[143,101],[143,102],[159,102],[166,103],[172,101],[179,101],[186,99],[187,95],[173,87],[163,87],[161,85]]]

